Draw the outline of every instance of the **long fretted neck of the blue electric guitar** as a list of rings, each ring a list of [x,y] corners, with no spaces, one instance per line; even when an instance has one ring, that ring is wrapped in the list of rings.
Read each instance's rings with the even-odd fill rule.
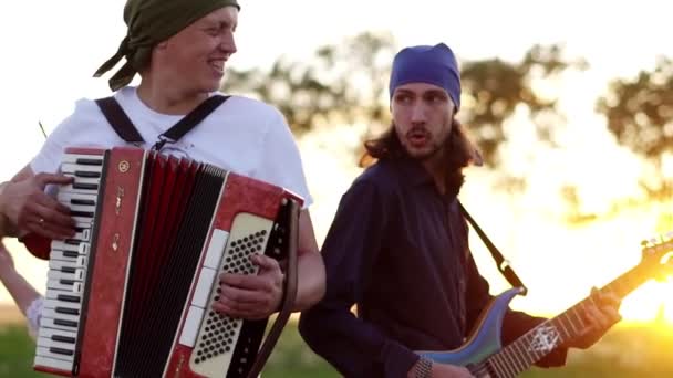
[[[601,288],[602,293],[614,293],[620,298],[631,293],[648,281],[651,264],[640,264],[619,276]],[[582,314],[584,307],[593,298],[588,296],[560,315],[530,329],[497,354],[494,354],[485,364],[489,365],[497,377],[516,377],[527,370],[535,363],[551,353],[556,347],[583,335],[588,327]]]

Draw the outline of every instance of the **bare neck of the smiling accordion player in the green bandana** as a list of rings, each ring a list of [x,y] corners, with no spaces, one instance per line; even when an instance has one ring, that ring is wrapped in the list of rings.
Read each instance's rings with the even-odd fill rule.
[[[208,98],[208,93],[186,91],[167,85],[152,75],[143,76],[137,90],[138,97],[151,109],[168,115],[184,115]]]

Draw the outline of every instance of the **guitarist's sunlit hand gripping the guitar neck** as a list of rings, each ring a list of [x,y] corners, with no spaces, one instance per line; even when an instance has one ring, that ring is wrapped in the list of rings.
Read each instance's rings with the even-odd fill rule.
[[[614,293],[602,293],[598,288],[591,290],[591,295],[583,308],[582,316],[587,327],[579,337],[568,340],[563,346],[587,349],[603,337],[603,335],[621,321],[619,307],[620,297]]]

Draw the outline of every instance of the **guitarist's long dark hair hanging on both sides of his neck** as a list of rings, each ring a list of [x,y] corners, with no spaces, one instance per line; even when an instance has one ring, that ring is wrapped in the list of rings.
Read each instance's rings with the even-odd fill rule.
[[[455,197],[465,176],[463,168],[470,164],[482,165],[482,154],[477,146],[469,140],[463,125],[454,117],[451,133],[445,141],[446,147],[446,195]],[[407,158],[408,154],[400,143],[394,123],[380,137],[364,143],[365,153],[360,158],[360,166],[367,167],[376,160],[396,160]]]

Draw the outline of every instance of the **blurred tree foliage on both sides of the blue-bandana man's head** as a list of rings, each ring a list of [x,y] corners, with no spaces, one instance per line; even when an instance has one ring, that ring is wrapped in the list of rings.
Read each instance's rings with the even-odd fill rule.
[[[396,50],[389,33],[365,32],[318,49],[308,62],[280,57],[268,73],[230,71],[226,85],[230,92],[278,106],[294,133],[360,122],[370,125],[366,136],[373,136],[390,125],[387,80]],[[459,116],[473,130],[487,165],[498,165],[504,123],[519,106],[529,109],[540,139],[553,141],[551,130],[559,122],[556,99],[541,98],[532,87],[538,80],[581,64],[567,62],[562,55],[559,45],[536,45],[518,63],[463,62]]]

